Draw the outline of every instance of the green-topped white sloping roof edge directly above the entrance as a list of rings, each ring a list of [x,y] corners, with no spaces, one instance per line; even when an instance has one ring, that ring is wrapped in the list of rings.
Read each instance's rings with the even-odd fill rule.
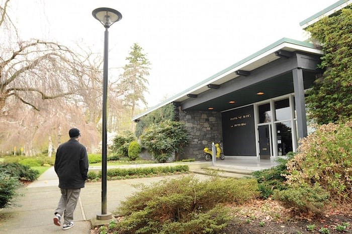
[[[160,107],[162,107],[162,106],[164,106],[166,104],[169,104],[170,102],[174,101],[178,97],[182,97],[182,96],[185,96],[185,95],[189,94],[189,92],[191,90],[208,83],[209,81],[213,80],[215,77],[217,77],[217,76],[219,76],[219,75],[221,75],[221,74],[223,74],[223,73],[225,73],[225,72],[227,72],[227,71],[229,71],[229,70],[231,70],[231,69],[233,69],[233,68],[235,68],[235,67],[237,67],[237,66],[239,66],[239,65],[241,65],[241,64],[243,64],[243,63],[245,63],[245,62],[247,62],[247,61],[249,61],[249,60],[251,60],[251,59],[253,59],[255,57],[257,57],[257,56],[259,56],[260,54],[263,54],[263,53],[265,53],[265,52],[277,47],[278,45],[283,44],[283,43],[290,43],[290,44],[295,44],[295,45],[300,45],[300,46],[316,49],[314,47],[314,45],[309,43],[309,42],[299,41],[299,40],[295,40],[295,39],[290,39],[290,38],[285,38],[284,37],[284,38],[274,42],[273,44],[271,44],[271,45],[269,45],[269,46],[267,46],[267,47],[255,52],[255,53],[253,53],[252,55],[249,55],[248,57],[236,62],[235,64],[233,64],[233,65],[231,65],[231,66],[219,71],[218,73],[210,76],[208,79],[197,83],[196,85],[188,88],[187,90],[185,90],[185,91],[183,91],[183,92],[181,92],[181,93],[179,93],[177,95],[172,96],[171,98],[166,99],[165,101],[161,102],[160,104],[158,104],[156,106],[153,106],[153,107],[149,108],[148,110],[146,110],[142,114],[139,114],[139,115],[133,117],[132,120],[136,120],[136,119],[138,119],[138,118],[140,118],[140,117],[152,112],[153,110],[156,110],[156,109],[158,109],[158,108],[160,108]]]

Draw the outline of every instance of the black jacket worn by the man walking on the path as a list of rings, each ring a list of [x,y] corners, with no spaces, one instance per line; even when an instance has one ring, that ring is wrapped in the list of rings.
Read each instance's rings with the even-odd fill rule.
[[[57,148],[54,168],[59,188],[84,188],[88,167],[87,151],[77,140],[71,138]]]

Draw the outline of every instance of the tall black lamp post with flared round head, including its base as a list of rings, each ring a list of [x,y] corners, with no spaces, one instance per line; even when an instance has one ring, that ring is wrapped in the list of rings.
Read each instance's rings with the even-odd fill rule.
[[[107,97],[108,97],[108,48],[111,25],[122,19],[120,12],[111,8],[97,8],[92,12],[105,27],[104,34],[104,67],[103,67],[103,116],[102,116],[102,213],[97,214],[98,220],[108,220],[112,214],[107,212]]]

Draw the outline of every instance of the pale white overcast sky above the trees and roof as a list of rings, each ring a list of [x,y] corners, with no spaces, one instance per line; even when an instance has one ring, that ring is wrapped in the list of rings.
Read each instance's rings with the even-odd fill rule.
[[[283,37],[307,39],[299,23],[335,2],[10,0],[10,14],[24,40],[79,42],[103,53],[105,29],[92,11],[118,10],[122,20],[109,29],[109,67],[124,66],[138,43],[152,63],[146,95],[151,107]]]

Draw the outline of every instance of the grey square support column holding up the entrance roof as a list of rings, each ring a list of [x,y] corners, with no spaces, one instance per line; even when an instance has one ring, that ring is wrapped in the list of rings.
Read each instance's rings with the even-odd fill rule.
[[[293,69],[292,76],[293,76],[293,87],[295,92],[297,131],[298,131],[298,138],[301,139],[308,135],[306,107],[304,102],[303,70],[301,68]]]

